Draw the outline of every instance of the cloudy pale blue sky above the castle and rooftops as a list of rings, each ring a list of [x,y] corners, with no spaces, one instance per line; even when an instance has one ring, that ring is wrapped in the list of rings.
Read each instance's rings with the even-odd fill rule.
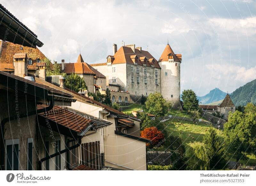
[[[156,59],[167,40],[182,54],[181,91],[204,96],[256,79],[256,1],[34,1],[1,4],[29,27],[52,61],[103,63],[125,44],[141,46]]]

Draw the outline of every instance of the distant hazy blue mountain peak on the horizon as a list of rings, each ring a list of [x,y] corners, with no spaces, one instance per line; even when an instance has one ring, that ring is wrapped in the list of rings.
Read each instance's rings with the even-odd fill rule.
[[[226,95],[226,92],[223,92],[218,88],[215,88],[205,96],[197,96],[197,99],[199,100],[199,105],[208,105],[212,102],[219,102],[220,100],[224,99]]]

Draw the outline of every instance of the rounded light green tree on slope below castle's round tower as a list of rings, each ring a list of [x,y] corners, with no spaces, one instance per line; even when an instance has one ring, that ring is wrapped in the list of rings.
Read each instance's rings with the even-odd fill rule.
[[[164,116],[167,113],[167,102],[159,92],[149,94],[145,104],[150,114]]]

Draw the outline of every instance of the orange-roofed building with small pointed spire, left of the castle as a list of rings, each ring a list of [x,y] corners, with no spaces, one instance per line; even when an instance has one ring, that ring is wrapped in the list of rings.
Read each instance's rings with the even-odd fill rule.
[[[106,77],[84,62],[81,54],[79,54],[76,63],[65,63],[64,59],[62,59],[61,70],[66,74],[75,73],[84,78],[89,92],[96,93],[97,90],[106,90]]]

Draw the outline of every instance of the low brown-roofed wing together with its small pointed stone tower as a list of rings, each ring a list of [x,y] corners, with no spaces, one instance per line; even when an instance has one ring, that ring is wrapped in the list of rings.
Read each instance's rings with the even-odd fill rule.
[[[236,106],[232,102],[229,94],[226,95],[226,97],[223,99],[223,101],[220,103],[220,105],[199,105],[199,108],[202,109],[203,112],[207,113],[216,113],[219,112],[222,116],[222,119],[228,120],[228,113],[229,112],[235,112]]]

